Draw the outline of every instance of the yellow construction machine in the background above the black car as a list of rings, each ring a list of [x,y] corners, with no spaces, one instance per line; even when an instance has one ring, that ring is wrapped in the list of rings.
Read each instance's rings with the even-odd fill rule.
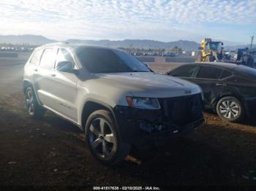
[[[223,42],[212,41],[210,38],[203,39],[198,48],[197,62],[222,61],[224,57],[222,45]]]

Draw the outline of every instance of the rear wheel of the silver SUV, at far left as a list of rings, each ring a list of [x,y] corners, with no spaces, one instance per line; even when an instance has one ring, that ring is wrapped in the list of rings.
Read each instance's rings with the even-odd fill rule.
[[[37,98],[34,95],[32,87],[27,87],[25,91],[26,109],[31,117],[42,117],[44,109],[37,102]]]

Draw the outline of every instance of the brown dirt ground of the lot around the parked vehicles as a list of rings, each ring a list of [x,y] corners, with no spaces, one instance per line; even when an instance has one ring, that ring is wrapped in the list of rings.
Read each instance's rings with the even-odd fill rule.
[[[40,120],[26,114],[19,62],[0,59],[1,186],[256,186],[255,119],[234,124],[205,113],[206,125],[195,133],[150,151],[133,149],[141,165],[110,167],[94,160],[71,123],[50,112]],[[177,65],[150,64],[157,71]]]

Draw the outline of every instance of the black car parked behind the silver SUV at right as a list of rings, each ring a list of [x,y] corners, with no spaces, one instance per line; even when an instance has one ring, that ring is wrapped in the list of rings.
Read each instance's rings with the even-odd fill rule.
[[[206,109],[223,120],[238,122],[256,109],[256,69],[234,63],[187,63],[167,75],[199,85]]]

